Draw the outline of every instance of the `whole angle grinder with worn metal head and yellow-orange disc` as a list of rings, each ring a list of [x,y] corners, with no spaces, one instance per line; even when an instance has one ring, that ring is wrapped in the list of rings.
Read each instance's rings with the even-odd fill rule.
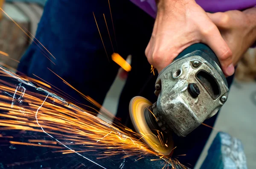
[[[155,83],[157,101],[136,96],[130,101],[133,126],[143,141],[162,155],[173,149],[172,132],[185,137],[227,101],[228,85],[217,56],[197,43],[163,69]]]

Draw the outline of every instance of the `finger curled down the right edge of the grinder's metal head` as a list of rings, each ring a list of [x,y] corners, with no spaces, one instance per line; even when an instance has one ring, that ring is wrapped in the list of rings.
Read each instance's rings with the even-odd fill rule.
[[[223,73],[226,76],[233,75],[235,69],[232,62],[232,52],[228,47],[227,43],[221,37],[220,32],[216,26],[213,26],[209,31],[204,31],[204,43],[209,45],[209,47],[217,55]]]

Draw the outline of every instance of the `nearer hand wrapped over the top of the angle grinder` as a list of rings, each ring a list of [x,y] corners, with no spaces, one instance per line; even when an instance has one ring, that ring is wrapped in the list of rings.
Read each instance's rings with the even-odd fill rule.
[[[145,50],[148,62],[160,72],[181,51],[198,42],[207,44],[215,52],[226,76],[234,73],[230,48],[195,0],[160,0]]]

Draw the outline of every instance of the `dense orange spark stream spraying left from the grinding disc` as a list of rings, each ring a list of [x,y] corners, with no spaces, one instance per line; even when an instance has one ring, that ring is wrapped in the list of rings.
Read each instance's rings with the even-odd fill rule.
[[[167,166],[178,164],[151,150],[140,141],[141,135],[121,124],[108,124],[5,68],[0,67],[0,77],[0,130],[31,131],[49,136],[48,140],[29,138],[25,142],[10,141],[10,144],[63,149],[58,152],[80,155],[102,168],[105,167],[88,158],[88,152],[96,152],[94,155],[98,160],[119,155],[122,159],[135,157],[138,161],[144,156],[155,155]],[[51,138],[57,142],[55,146],[52,146]],[[37,141],[40,144],[35,144]]]

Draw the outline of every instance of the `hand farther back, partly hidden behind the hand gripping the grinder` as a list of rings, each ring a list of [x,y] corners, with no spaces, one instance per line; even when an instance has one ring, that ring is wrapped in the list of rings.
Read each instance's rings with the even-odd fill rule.
[[[256,41],[256,8],[208,14],[218,27],[233,54],[236,65],[241,56]]]

